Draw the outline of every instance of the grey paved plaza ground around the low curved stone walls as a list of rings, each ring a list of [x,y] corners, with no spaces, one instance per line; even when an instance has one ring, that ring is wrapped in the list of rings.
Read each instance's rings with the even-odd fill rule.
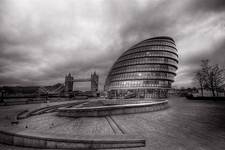
[[[17,126],[68,134],[138,134],[146,139],[146,147],[138,148],[141,150],[225,149],[225,102],[170,98],[169,104],[170,108],[162,111],[110,118],[75,119],[57,117],[54,113],[50,113],[25,119]],[[0,124],[4,125],[7,115],[22,107],[25,106],[0,107]],[[118,130],[122,132],[113,131],[109,119],[114,121]],[[7,145],[0,145],[0,149],[28,150]]]

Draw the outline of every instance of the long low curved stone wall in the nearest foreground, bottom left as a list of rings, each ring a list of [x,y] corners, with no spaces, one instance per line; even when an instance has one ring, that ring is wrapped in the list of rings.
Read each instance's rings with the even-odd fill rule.
[[[0,143],[45,149],[110,149],[145,146],[145,140],[136,135],[68,135],[3,128],[0,129]]]

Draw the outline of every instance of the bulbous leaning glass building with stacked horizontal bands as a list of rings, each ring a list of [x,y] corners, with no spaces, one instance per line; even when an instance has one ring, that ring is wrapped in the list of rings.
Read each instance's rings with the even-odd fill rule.
[[[144,40],[117,59],[106,78],[105,90],[109,98],[166,98],[177,64],[172,38]]]

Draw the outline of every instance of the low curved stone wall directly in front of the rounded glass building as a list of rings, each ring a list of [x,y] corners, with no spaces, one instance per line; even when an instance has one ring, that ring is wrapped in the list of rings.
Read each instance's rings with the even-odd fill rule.
[[[121,115],[132,113],[143,113],[162,110],[168,107],[168,101],[121,104],[110,106],[79,107],[79,108],[59,108],[58,116],[67,117],[99,117],[109,115]]]

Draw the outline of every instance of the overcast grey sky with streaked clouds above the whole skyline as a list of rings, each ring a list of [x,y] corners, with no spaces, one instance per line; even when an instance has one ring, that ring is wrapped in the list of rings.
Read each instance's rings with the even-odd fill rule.
[[[129,47],[174,38],[173,85],[192,85],[199,61],[225,64],[225,0],[0,0],[0,85],[63,83],[100,75]]]

